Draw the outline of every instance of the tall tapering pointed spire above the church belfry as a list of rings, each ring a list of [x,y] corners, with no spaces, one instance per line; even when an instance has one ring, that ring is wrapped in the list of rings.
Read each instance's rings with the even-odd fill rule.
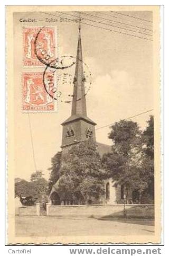
[[[74,89],[71,114],[80,114],[87,116],[86,98],[85,98],[85,75],[83,73],[82,47],[81,47],[81,24],[79,21],[79,39],[76,58],[76,69],[74,74]]]

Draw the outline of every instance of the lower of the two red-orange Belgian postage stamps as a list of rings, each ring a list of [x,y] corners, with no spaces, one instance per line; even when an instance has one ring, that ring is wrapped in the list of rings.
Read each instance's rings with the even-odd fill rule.
[[[48,83],[46,83],[48,86]],[[50,90],[50,88],[48,88]],[[43,86],[42,72],[23,73],[22,88],[22,109],[23,111],[53,111],[53,98],[46,93]],[[52,94],[52,92],[51,92]]]

